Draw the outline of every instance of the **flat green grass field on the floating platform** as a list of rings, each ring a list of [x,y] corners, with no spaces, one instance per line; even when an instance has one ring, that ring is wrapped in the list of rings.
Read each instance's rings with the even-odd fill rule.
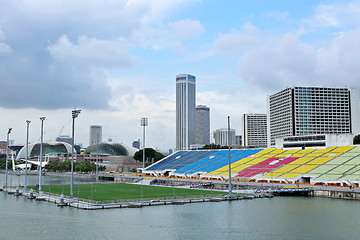
[[[29,187],[29,189],[36,187]],[[70,185],[43,185],[42,192],[53,194],[70,195]],[[110,184],[79,184],[74,185],[74,198],[93,200],[98,202],[120,202],[120,201],[138,201],[141,197],[141,185],[110,183]],[[184,197],[218,196],[225,195],[224,192],[184,189],[172,187],[159,187],[143,185],[143,200],[169,199]]]

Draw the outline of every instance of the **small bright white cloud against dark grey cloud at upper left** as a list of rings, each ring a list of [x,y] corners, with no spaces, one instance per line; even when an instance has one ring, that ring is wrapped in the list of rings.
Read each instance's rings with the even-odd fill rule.
[[[62,62],[107,67],[128,67],[132,64],[131,55],[116,41],[81,36],[74,44],[63,35],[55,44],[48,46],[48,50]]]

